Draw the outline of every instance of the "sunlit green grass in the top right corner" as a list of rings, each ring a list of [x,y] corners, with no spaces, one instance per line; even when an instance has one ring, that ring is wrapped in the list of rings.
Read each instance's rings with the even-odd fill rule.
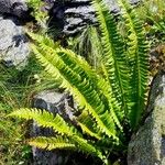
[[[165,42],[165,1],[145,0],[136,8],[136,11],[145,22],[145,30],[151,44],[158,45]]]

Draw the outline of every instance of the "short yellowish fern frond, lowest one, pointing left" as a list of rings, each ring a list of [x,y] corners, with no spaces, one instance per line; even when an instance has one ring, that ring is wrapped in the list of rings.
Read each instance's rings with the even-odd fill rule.
[[[55,148],[64,148],[64,150],[76,150],[76,146],[74,143],[72,143],[69,140],[64,139],[62,136],[57,138],[45,138],[45,136],[37,136],[33,138],[29,141],[30,145],[36,146],[38,148],[45,148],[45,150],[55,150]]]

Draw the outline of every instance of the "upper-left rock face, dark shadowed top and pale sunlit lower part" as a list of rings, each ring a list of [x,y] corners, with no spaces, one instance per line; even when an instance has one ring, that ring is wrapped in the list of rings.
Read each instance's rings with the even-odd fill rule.
[[[26,64],[30,48],[22,23],[30,21],[26,0],[0,0],[0,59],[21,68]]]

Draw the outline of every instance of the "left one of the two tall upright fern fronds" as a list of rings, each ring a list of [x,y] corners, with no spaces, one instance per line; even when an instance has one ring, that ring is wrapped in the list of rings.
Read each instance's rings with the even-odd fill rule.
[[[127,95],[130,90],[128,79],[131,73],[128,67],[124,42],[119,34],[117,22],[106,4],[102,1],[94,0],[92,6],[96,9],[101,30],[105,76],[112,88],[113,95],[118,98],[122,110],[127,112]]]

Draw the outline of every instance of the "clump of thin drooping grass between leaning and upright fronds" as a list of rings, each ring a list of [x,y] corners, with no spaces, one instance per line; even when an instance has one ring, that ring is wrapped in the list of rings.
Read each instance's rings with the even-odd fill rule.
[[[70,37],[68,47],[84,56],[94,68],[100,67],[102,47],[97,28],[89,25],[77,37]]]

